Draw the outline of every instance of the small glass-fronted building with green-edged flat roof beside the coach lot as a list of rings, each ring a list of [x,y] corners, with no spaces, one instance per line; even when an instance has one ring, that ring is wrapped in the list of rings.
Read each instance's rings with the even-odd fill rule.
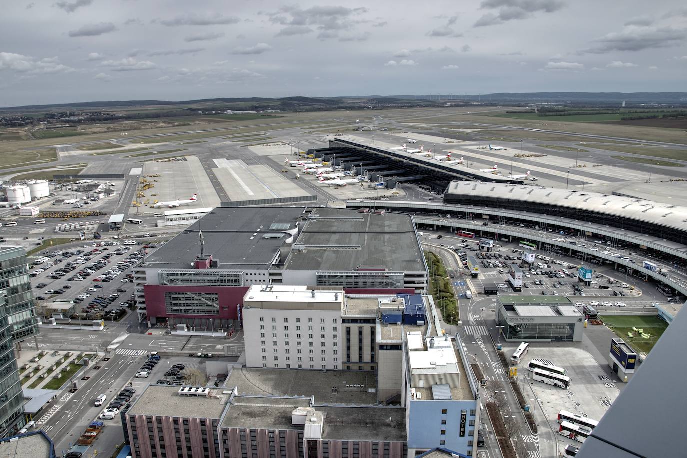
[[[496,325],[508,341],[582,341],[585,317],[564,296],[499,296]]]

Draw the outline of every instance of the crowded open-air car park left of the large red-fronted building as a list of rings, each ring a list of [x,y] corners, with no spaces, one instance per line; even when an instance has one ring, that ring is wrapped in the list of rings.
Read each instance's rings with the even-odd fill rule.
[[[135,304],[131,267],[157,244],[109,243],[41,253],[30,264],[38,306],[73,301],[76,306],[71,318],[78,318],[79,313],[84,319],[123,317],[127,307]]]

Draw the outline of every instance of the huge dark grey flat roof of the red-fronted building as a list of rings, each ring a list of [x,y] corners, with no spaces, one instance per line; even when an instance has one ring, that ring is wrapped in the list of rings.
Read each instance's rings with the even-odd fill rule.
[[[410,216],[324,207],[217,207],[148,255],[146,265],[190,268],[201,252],[201,229],[205,255],[223,269],[268,269],[285,250],[286,268],[293,270],[424,271]],[[299,248],[291,251],[289,243]]]

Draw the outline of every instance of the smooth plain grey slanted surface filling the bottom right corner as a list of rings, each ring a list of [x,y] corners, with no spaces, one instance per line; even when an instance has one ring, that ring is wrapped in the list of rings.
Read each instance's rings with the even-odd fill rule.
[[[687,396],[660,380],[685,380],[687,313],[677,314],[640,369],[594,428],[580,458],[684,457]],[[660,374],[660,378],[657,378]],[[641,415],[638,415],[641,412]]]

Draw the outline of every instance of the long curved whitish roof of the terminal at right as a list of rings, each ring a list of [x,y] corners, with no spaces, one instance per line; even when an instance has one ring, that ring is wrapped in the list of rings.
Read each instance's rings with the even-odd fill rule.
[[[556,187],[467,181],[452,181],[446,194],[501,198],[523,201],[523,203],[534,201],[552,206],[574,207],[687,231],[687,207],[633,197],[564,190]]]

